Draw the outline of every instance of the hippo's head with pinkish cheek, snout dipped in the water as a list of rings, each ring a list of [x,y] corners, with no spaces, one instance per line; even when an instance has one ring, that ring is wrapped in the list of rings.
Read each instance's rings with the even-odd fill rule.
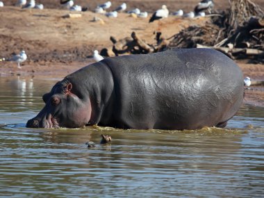
[[[56,83],[51,92],[42,97],[46,104],[44,108],[36,117],[28,120],[26,127],[76,128],[85,126],[91,117],[90,101],[81,100],[73,90],[72,83],[67,81]]]

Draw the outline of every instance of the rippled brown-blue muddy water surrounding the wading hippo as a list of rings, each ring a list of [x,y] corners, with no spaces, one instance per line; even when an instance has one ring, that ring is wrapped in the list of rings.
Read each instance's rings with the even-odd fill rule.
[[[0,197],[263,197],[263,108],[226,129],[26,129],[57,80],[0,78]]]

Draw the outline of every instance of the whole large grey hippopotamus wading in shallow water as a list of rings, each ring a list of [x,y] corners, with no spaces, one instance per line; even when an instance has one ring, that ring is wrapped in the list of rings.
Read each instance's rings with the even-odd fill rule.
[[[224,127],[242,104],[243,75],[213,49],[173,49],[105,58],[43,95],[27,127],[201,129]]]

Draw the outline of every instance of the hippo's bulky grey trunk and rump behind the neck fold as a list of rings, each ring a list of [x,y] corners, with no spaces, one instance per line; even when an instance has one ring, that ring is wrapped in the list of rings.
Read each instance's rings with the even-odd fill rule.
[[[199,129],[227,121],[242,104],[242,72],[219,51],[175,49],[103,63],[113,74],[119,127]]]

